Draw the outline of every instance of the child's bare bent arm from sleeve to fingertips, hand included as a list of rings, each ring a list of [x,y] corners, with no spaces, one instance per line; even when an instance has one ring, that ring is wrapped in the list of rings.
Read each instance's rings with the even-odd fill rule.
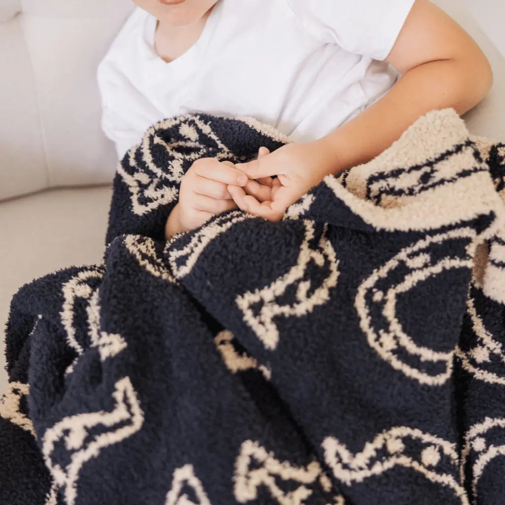
[[[288,205],[325,175],[370,161],[433,109],[467,112],[492,85],[489,62],[475,41],[428,0],[416,0],[386,60],[402,77],[356,118],[314,142],[288,144],[258,161],[238,165],[249,178],[283,174],[280,179],[287,187],[277,192],[282,199],[261,207],[240,188],[231,188],[237,205],[267,219],[280,219]]]

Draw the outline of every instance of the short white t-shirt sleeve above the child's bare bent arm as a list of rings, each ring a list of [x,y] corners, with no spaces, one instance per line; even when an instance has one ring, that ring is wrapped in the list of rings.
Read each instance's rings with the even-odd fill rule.
[[[384,60],[415,0],[287,0],[302,26],[350,53]]]

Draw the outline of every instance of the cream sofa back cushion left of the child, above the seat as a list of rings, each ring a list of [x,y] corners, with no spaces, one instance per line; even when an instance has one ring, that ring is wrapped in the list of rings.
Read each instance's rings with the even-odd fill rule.
[[[4,2],[7,16],[14,4],[7,11]],[[96,69],[134,6],[23,0],[22,7],[0,24],[0,199],[110,183],[117,157],[100,129]]]

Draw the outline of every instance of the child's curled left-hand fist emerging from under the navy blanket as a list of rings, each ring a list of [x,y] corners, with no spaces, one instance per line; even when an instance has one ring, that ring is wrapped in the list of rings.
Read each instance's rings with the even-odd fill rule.
[[[193,230],[215,214],[234,209],[236,204],[228,188],[246,183],[247,176],[231,162],[215,158],[196,160],[182,178],[179,201],[165,226],[166,238]]]

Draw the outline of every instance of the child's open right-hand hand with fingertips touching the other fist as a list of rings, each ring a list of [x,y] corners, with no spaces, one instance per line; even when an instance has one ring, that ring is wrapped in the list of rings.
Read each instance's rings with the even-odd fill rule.
[[[338,170],[338,160],[327,144],[316,140],[287,144],[273,153],[262,147],[257,160],[235,167],[249,179],[258,181],[250,180],[243,189],[228,186],[237,206],[256,216],[278,221],[300,196]],[[277,178],[271,179],[272,175]]]

